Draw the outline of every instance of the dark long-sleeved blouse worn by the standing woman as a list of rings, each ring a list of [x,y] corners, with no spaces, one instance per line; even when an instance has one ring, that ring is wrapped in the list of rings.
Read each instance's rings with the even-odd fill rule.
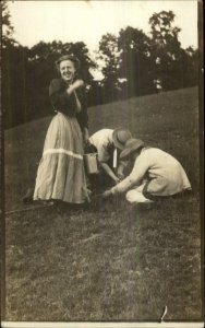
[[[49,97],[51,105],[55,110],[61,112],[67,116],[73,117],[75,116],[81,129],[87,128],[88,126],[88,116],[87,116],[87,106],[86,106],[86,97],[85,90],[81,87],[75,91],[77,98],[81,103],[81,112],[76,114],[76,98],[72,93],[69,95],[67,93],[68,85],[62,79],[55,79],[50,82],[49,85]]]

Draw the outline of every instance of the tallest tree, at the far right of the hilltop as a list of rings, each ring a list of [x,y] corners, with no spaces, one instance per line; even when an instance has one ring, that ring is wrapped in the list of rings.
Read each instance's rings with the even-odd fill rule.
[[[178,39],[180,28],[174,26],[174,13],[161,11],[149,19],[152,34],[152,60],[155,63],[155,79],[159,80],[164,90],[179,89],[190,84],[193,78],[193,52],[181,48]],[[197,60],[196,60],[197,62]],[[192,74],[189,73],[192,72]]]

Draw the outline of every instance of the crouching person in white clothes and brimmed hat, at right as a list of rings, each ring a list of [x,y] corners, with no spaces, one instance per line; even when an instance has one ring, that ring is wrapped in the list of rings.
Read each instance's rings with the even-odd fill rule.
[[[125,194],[130,203],[148,203],[157,198],[182,195],[191,190],[181,164],[160,149],[145,147],[140,139],[126,141],[121,160],[133,162],[131,174],[102,194],[102,198]]]

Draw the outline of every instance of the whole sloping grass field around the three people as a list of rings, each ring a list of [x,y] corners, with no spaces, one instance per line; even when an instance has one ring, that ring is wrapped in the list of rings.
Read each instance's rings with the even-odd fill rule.
[[[197,89],[89,108],[176,156],[193,195],[136,211],[123,198],[5,215],[7,320],[202,320]],[[51,117],[5,133],[5,210],[35,181]]]

